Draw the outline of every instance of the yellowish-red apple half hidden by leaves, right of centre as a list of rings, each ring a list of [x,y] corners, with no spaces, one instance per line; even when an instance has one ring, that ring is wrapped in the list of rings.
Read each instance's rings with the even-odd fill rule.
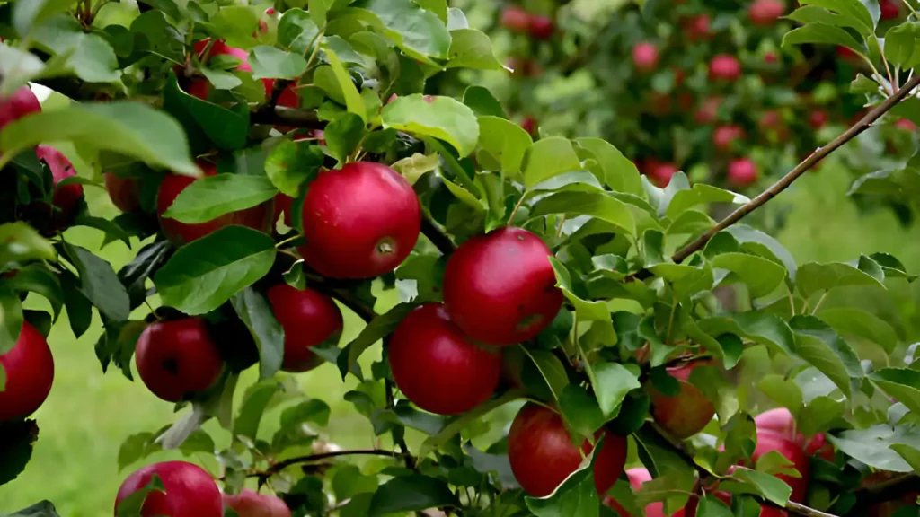
[[[674,437],[684,440],[703,431],[716,414],[716,407],[695,385],[687,382],[690,373],[698,366],[712,364],[711,361],[687,362],[668,368],[668,373],[677,379],[680,393],[665,396],[650,385],[651,416],[662,429]]]

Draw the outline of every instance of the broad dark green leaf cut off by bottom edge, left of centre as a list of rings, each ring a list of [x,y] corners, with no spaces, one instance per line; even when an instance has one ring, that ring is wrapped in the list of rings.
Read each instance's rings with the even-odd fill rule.
[[[436,477],[410,474],[394,477],[374,492],[370,515],[386,515],[429,508],[460,507],[460,500]]]

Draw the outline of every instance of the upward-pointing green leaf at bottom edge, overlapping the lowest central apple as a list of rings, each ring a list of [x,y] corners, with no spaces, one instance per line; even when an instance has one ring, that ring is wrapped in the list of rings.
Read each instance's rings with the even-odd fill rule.
[[[594,447],[599,450],[603,445]],[[597,488],[594,488],[593,465],[596,455],[582,460],[575,472],[569,474],[546,498],[524,497],[527,508],[537,517],[598,517],[601,513]]]

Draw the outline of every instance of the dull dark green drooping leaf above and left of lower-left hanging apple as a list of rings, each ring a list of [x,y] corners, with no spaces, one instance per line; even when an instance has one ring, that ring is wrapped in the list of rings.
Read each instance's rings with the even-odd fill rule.
[[[80,292],[86,295],[86,299],[109,319],[128,319],[131,299],[111,264],[85,247],[64,243],[63,248],[80,273]]]

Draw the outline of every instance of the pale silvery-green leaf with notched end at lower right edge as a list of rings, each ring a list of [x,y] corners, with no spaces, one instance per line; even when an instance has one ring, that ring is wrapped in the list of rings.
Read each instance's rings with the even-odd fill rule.
[[[903,443],[920,449],[920,428],[916,426],[891,427],[885,423],[868,429],[842,431],[825,436],[834,447],[857,461],[892,472],[913,472],[914,469],[900,454],[891,449],[891,445]]]

